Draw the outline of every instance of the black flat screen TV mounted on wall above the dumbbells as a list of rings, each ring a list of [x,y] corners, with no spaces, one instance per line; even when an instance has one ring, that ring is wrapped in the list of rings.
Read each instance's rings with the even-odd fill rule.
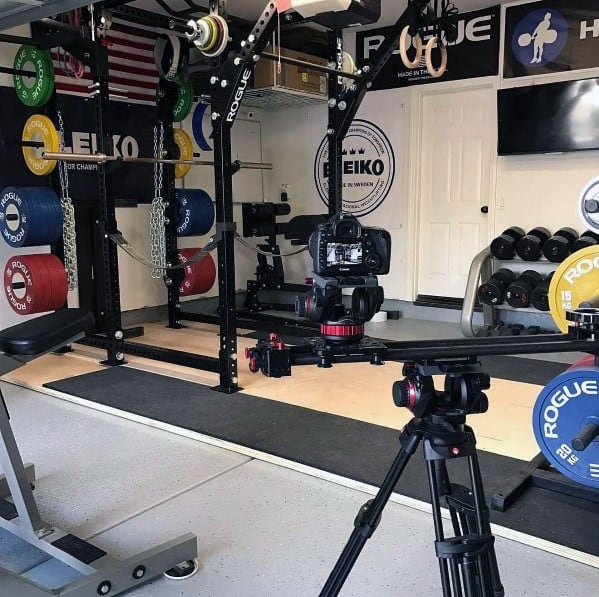
[[[599,149],[599,79],[498,92],[499,155]]]

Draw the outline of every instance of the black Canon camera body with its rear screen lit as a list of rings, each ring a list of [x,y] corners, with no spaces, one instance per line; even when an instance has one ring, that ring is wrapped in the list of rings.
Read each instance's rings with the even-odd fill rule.
[[[309,242],[314,273],[323,277],[378,276],[391,266],[391,235],[366,228],[350,214],[318,226]]]

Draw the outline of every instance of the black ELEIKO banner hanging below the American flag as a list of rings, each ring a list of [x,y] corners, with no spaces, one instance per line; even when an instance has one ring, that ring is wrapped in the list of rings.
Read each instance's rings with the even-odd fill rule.
[[[64,120],[66,151],[94,153],[97,140],[90,132],[93,129],[90,102],[76,96],[57,95],[56,107],[61,110]],[[50,177],[35,176],[28,170],[21,151],[23,125],[36,112],[43,113],[43,110],[24,106],[12,87],[0,87],[0,189],[8,186],[52,185]],[[55,118],[53,122],[58,128]],[[114,154],[153,156],[155,122],[156,108],[152,106],[111,102],[104,115],[104,126],[112,139]],[[73,201],[96,200],[97,165],[69,163],[68,167]],[[108,192],[126,203],[150,203],[154,196],[151,164],[108,164],[107,182]],[[58,191],[58,187],[54,186]]]

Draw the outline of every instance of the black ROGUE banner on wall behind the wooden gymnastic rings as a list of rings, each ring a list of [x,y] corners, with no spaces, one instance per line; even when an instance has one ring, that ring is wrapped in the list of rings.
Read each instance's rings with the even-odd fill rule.
[[[457,18],[458,39],[447,49],[447,71],[437,79],[426,69],[424,57],[420,66],[406,68],[396,51],[376,78],[373,89],[395,89],[436,81],[458,81],[475,77],[488,77],[499,72],[499,7],[476,10],[460,14]],[[376,50],[391,28],[372,29],[356,34],[356,54],[359,66],[373,59]],[[425,35],[423,42],[430,39]],[[414,59],[415,50],[408,50],[408,57]],[[433,51],[433,64],[441,61],[440,52]]]

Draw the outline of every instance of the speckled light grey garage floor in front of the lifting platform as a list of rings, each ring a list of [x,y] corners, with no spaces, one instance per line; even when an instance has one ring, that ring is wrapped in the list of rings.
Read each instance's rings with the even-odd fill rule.
[[[139,596],[317,595],[369,495],[43,394],[6,386],[23,458],[36,464],[42,515],[125,557],[186,532],[200,571]],[[367,447],[365,447],[367,449]],[[62,584],[0,532],[0,565]],[[507,595],[594,595],[599,571],[499,538]],[[440,594],[428,514],[390,503],[342,595]],[[2,594],[0,587],[0,595]],[[6,596],[18,597],[18,596]]]

